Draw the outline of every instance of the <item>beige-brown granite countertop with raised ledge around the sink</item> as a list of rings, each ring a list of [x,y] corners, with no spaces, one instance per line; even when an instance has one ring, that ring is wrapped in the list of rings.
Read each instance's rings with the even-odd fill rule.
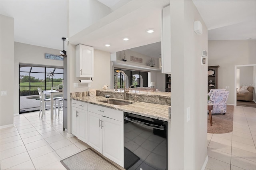
[[[135,93],[134,91],[130,90],[130,92],[127,93],[127,101],[132,102],[132,104],[123,106],[102,102],[109,99],[123,101],[123,90],[96,90],[96,94],[96,96],[80,96],[77,95],[77,93],[70,93],[70,99],[162,121],[170,121],[169,107],[171,103],[171,95],[168,92],[136,91],[137,102],[134,102],[133,100]],[[110,98],[106,98],[105,95],[110,95]]]

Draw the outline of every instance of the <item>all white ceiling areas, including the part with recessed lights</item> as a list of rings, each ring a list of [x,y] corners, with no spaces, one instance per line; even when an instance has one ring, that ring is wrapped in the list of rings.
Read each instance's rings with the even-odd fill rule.
[[[100,0],[112,11],[118,8],[124,10],[125,4],[134,1]],[[168,1],[146,2],[143,8],[134,10],[131,14],[116,20],[109,26],[107,32],[86,35],[84,44],[90,44],[96,49],[104,51],[121,51],[149,43],[159,42],[160,38],[160,12]],[[196,8],[208,27],[208,40],[246,40],[256,39],[256,1],[255,0],[193,0]],[[67,37],[67,1],[11,1],[1,0],[1,14],[14,18],[14,41],[62,49],[61,38]],[[145,15],[145,12],[150,12]],[[151,17],[151,18],[149,18]],[[131,24],[133,23],[133,24]],[[125,24],[125,28],[122,26]],[[145,28],[155,28],[152,35],[145,32]],[[119,31],[117,31],[119,29]],[[111,31],[112,30],[112,31]],[[121,38],[128,36],[130,40],[124,42]],[[86,39],[86,38],[84,38]],[[78,42],[83,43],[83,42]],[[104,47],[104,43],[111,43],[111,47]],[[159,43],[158,48],[159,48]],[[158,49],[157,48],[157,49]],[[135,50],[148,53],[154,47]],[[160,48],[156,52],[159,55]],[[156,55],[155,54],[155,55]],[[153,57],[153,56],[152,56]],[[158,56],[156,56],[158,57]]]

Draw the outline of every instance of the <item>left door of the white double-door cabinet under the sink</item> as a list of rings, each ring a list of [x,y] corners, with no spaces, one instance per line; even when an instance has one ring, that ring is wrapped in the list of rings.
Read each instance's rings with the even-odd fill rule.
[[[102,153],[102,116],[87,112],[87,144]]]

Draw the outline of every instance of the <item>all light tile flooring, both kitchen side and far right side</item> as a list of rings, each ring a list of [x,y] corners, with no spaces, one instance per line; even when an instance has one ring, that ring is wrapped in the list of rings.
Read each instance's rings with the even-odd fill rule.
[[[65,170],[60,160],[89,146],[68,138],[62,115],[38,112],[14,117],[16,127],[0,130],[1,170]],[[233,132],[208,134],[206,170],[256,170],[256,108],[234,107]]]

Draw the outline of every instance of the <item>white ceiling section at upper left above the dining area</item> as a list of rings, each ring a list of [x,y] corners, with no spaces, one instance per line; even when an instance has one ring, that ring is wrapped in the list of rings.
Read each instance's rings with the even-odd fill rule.
[[[63,49],[67,1],[0,0],[1,14],[14,18],[14,42]]]

